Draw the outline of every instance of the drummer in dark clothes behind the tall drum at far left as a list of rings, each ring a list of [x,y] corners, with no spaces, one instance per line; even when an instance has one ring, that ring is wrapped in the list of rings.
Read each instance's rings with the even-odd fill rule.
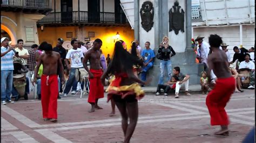
[[[16,75],[21,75],[23,74],[24,76],[26,75],[25,73],[28,73],[28,68],[23,65],[24,60],[22,58],[14,58],[14,77]],[[18,101],[19,98],[21,98],[21,95],[18,94],[18,91],[14,87],[14,83],[12,83],[12,91],[11,91],[11,98],[15,98],[14,101]],[[28,94],[29,94],[29,78],[26,77],[26,86],[25,86],[25,95],[24,97],[28,99]]]

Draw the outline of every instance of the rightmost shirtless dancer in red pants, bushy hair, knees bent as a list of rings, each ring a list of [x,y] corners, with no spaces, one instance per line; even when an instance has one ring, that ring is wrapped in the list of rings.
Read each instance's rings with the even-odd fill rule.
[[[229,120],[225,106],[235,90],[235,79],[230,73],[227,55],[219,49],[222,42],[217,34],[211,34],[209,37],[213,53],[208,56],[208,78],[210,79],[210,72],[213,70],[217,81],[215,88],[206,97],[206,105],[211,116],[211,125],[221,127],[220,131],[214,133],[216,135],[228,135]]]

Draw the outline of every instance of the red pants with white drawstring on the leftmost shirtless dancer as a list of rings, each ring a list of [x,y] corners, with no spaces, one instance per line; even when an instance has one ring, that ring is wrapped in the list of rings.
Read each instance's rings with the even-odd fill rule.
[[[41,102],[43,118],[57,119],[58,76],[42,75]]]

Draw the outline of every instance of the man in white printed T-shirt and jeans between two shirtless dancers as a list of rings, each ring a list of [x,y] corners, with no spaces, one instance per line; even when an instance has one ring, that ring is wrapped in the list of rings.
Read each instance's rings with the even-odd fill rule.
[[[72,40],[71,45],[73,46],[72,49],[69,50],[69,52],[66,54],[66,67],[67,70],[70,70],[69,72],[69,79],[66,82],[66,87],[64,90],[64,97],[66,97],[73,85],[74,82],[76,82],[75,79],[75,72],[78,68],[83,68],[83,58],[84,54],[82,52],[82,49],[78,48],[78,42],[77,40]],[[71,59],[71,66],[69,66],[68,60]],[[76,91],[72,91],[71,94],[76,94]]]

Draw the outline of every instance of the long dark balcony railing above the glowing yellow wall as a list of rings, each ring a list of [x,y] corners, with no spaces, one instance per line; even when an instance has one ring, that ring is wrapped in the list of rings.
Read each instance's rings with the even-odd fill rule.
[[[51,12],[38,24],[71,24],[71,23],[101,23],[101,24],[129,24],[125,15],[113,12],[91,13],[87,11]]]

